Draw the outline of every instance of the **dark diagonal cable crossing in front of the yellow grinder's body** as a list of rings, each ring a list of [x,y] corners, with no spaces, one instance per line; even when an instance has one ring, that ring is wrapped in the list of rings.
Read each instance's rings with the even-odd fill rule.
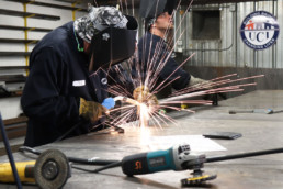
[[[16,182],[16,187],[18,187],[18,189],[22,189],[22,184],[21,184],[18,170],[16,170],[16,167],[15,167],[14,157],[13,157],[10,144],[9,144],[9,140],[8,140],[8,136],[7,136],[7,133],[5,133],[4,123],[2,121],[1,113],[0,113],[0,127],[1,127],[1,133],[2,133],[2,138],[3,138],[3,142],[4,142],[4,146],[5,146],[5,152],[7,152],[7,155],[9,157],[9,162],[10,162],[10,165],[11,165],[11,168],[12,168],[12,171],[13,171],[14,180]]]

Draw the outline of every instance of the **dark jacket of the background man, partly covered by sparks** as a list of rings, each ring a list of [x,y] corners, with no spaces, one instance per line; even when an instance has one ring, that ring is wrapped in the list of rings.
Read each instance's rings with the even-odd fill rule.
[[[148,69],[147,66],[151,60],[155,65],[152,70],[156,71],[158,64],[160,62],[167,60],[168,54],[169,51],[167,47],[167,43],[161,37],[146,32],[138,42],[138,58],[140,65],[144,65],[144,68],[142,69],[142,73],[144,73],[143,77],[145,77],[148,73],[146,71]],[[191,76],[182,68],[177,69],[178,66],[179,64],[169,56],[168,60],[165,64],[165,67],[159,73],[159,84],[166,80],[173,71],[176,71],[172,76],[169,77],[167,82],[180,76],[179,79],[172,82],[172,87],[177,90],[188,87]]]

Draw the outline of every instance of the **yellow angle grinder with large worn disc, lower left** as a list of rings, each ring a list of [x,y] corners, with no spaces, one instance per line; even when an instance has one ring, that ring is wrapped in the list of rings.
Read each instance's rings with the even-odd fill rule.
[[[59,189],[71,176],[68,158],[58,149],[43,152],[36,160],[15,163],[21,182]],[[0,182],[15,182],[10,163],[0,164]]]

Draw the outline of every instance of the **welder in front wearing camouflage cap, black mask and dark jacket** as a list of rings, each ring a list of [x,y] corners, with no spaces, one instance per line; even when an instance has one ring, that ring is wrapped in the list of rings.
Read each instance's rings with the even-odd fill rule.
[[[25,146],[91,132],[115,105],[107,69],[134,54],[137,22],[113,7],[89,4],[88,11],[46,34],[31,53],[21,98],[29,116]]]

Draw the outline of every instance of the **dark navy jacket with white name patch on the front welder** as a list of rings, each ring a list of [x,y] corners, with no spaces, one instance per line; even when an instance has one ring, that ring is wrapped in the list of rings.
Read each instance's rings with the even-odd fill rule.
[[[73,22],[69,22],[45,35],[31,53],[21,98],[29,116],[24,145],[54,142],[73,125],[79,126],[68,136],[89,132],[90,122],[79,116],[79,98],[101,103],[107,97],[107,84],[102,71],[90,76],[89,57],[77,46]]]

